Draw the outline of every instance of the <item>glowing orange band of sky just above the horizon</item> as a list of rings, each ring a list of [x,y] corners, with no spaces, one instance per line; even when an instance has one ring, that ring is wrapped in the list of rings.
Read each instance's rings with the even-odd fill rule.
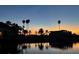
[[[35,31],[38,31],[41,27],[30,27],[30,30],[32,31],[32,34],[35,34]],[[46,27],[42,27],[44,30],[49,30],[49,31],[56,31],[56,30],[59,30],[59,27],[58,25],[56,26],[46,26]],[[76,34],[79,34],[79,26],[78,25],[69,25],[69,24],[66,24],[66,25],[61,25],[61,30],[68,30],[68,31],[72,31],[72,33],[76,33]]]

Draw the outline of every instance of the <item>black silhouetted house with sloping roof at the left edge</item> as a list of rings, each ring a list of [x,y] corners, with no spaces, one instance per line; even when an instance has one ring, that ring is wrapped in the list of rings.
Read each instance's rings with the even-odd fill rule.
[[[0,38],[11,38],[15,35],[14,28],[0,22]]]

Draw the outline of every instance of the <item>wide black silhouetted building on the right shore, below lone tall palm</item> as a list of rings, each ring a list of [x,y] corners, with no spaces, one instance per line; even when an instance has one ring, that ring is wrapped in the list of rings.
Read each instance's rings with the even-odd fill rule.
[[[51,42],[68,42],[72,39],[72,32],[67,30],[50,31],[49,36]]]

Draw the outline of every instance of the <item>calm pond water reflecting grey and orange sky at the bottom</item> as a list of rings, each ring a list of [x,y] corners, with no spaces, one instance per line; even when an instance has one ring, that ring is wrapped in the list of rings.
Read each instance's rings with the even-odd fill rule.
[[[77,54],[79,53],[79,43],[73,43],[71,47],[57,48],[49,43],[25,43],[19,45],[21,54]]]

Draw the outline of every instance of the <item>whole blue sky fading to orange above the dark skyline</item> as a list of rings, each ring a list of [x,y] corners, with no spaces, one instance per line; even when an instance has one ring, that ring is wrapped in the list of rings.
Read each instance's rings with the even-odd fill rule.
[[[55,31],[58,20],[60,29],[79,34],[79,6],[77,5],[0,5],[0,22],[11,21],[22,26],[22,20],[30,19],[32,31],[39,28]]]

